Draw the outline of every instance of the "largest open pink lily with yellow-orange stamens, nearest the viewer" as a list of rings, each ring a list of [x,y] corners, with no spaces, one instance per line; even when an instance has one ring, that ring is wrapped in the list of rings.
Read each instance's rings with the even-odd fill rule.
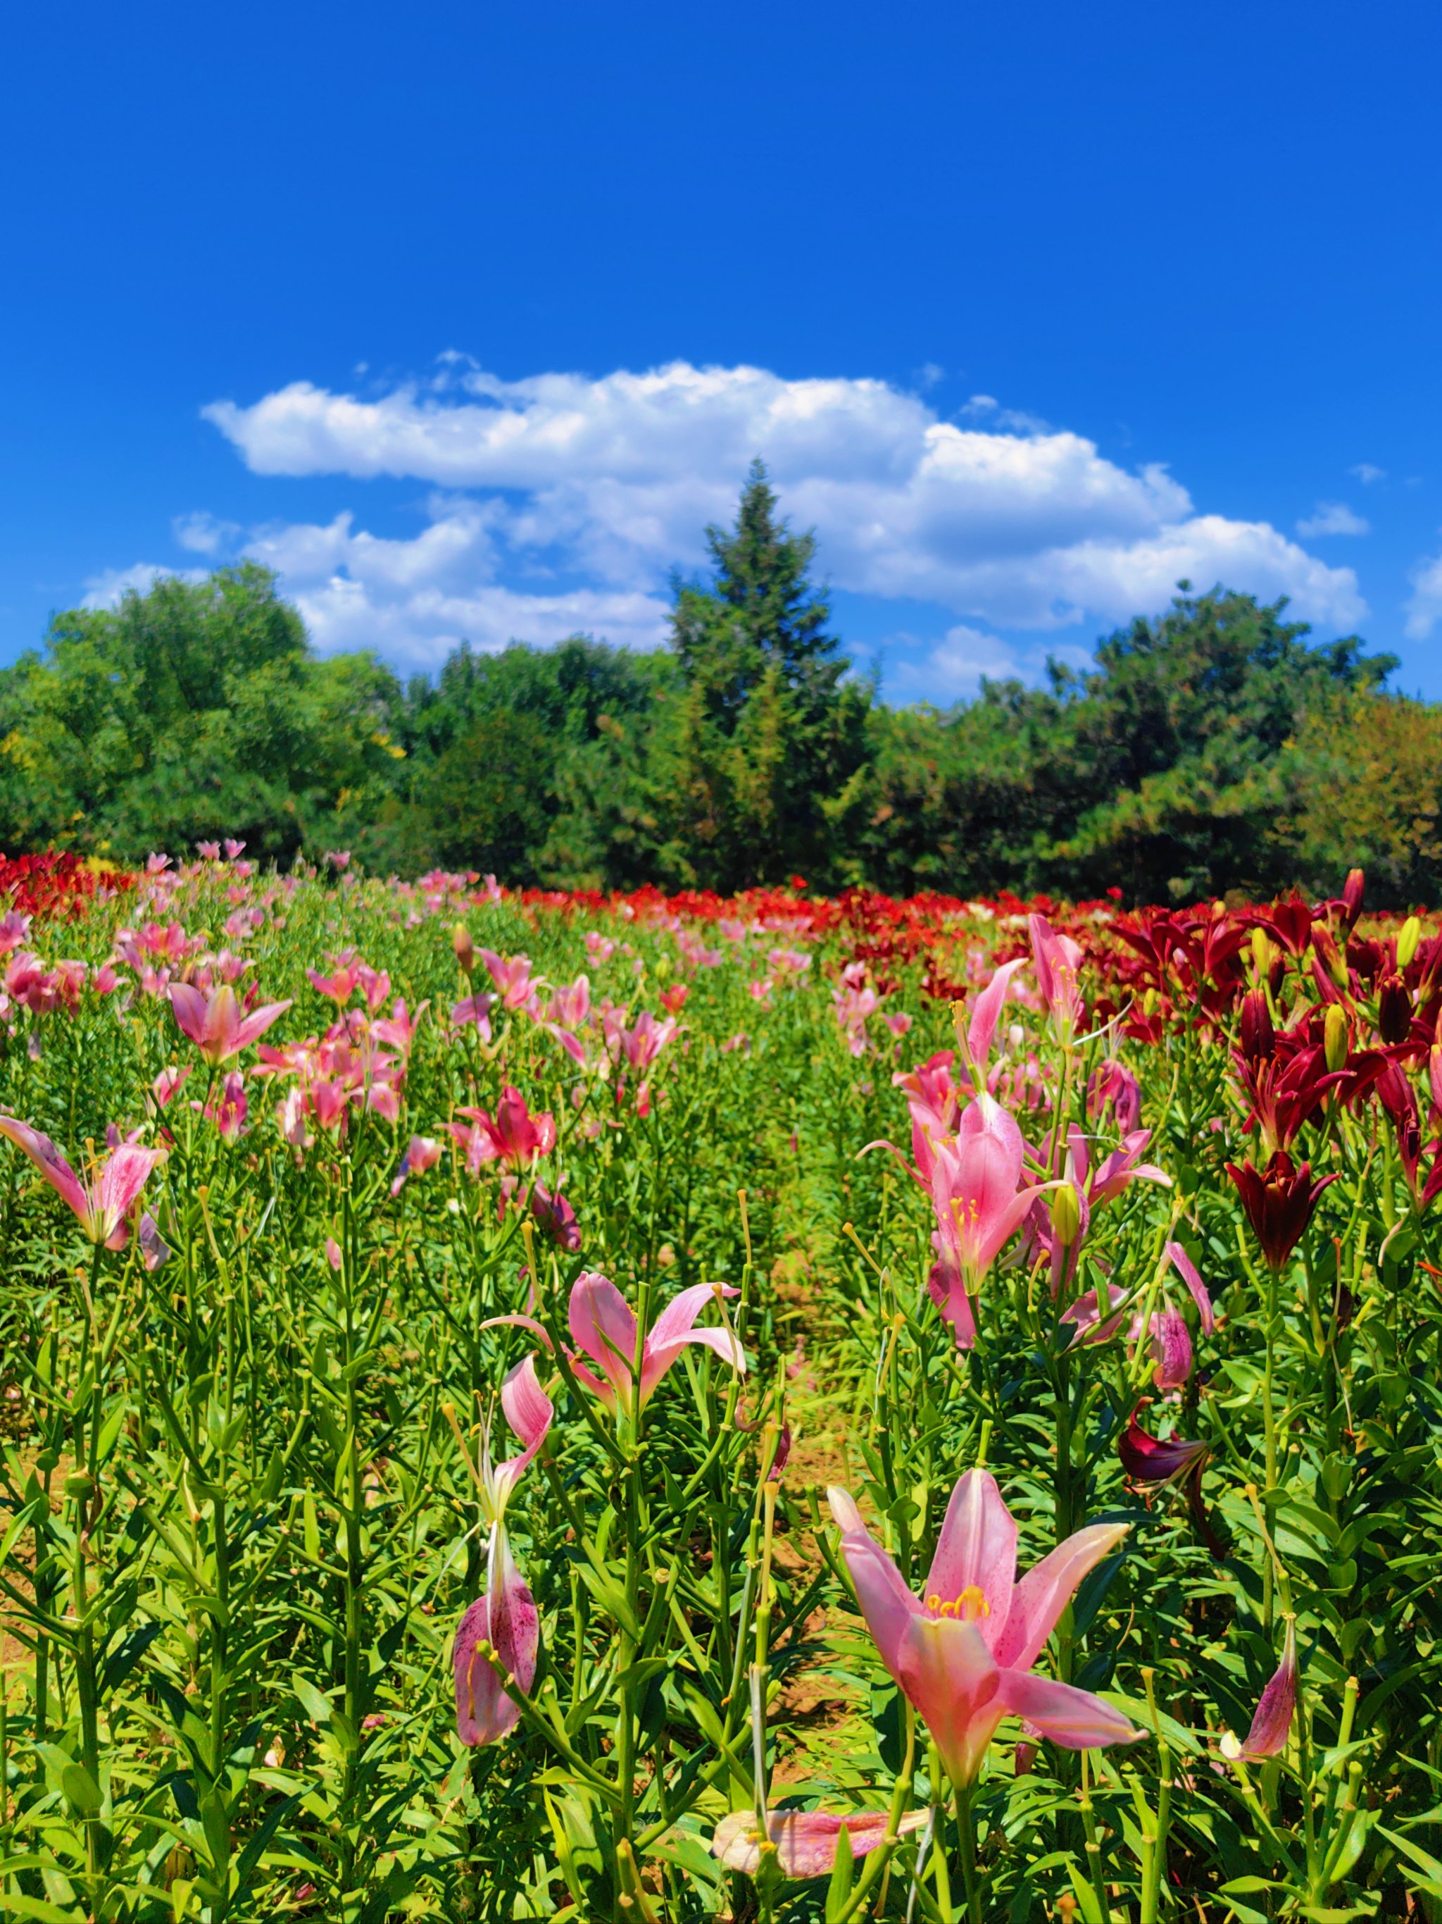
[[[954,1784],[977,1780],[1004,1716],[1025,1718],[1071,1751],[1144,1735],[1090,1691],[1032,1676],[1077,1585],[1121,1543],[1127,1524],[1079,1530],[1017,1583],[1015,1520],[996,1480],[967,1470],[946,1506],[925,1597],[917,1597],[854,1499],[844,1489],[827,1495],[871,1639]]]

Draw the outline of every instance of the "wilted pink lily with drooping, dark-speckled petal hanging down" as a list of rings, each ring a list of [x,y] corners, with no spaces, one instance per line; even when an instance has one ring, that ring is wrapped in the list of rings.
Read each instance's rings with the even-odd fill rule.
[[[461,1616],[452,1647],[456,1730],[461,1743],[471,1747],[498,1743],[521,1716],[515,1699],[506,1695],[498,1668],[515,1678],[523,1691],[531,1689],[536,1676],[540,1618],[531,1587],[515,1568],[506,1535],[506,1505],[521,1472],[544,1443],[556,1414],[550,1397],[536,1380],[535,1356],[527,1356],[506,1378],[500,1389],[500,1406],[525,1449],[519,1456],[492,1464],[490,1439],[486,1437],[481,1453],[481,1508],[490,1524],[486,1589]],[[488,1643],[496,1653],[494,1664],[481,1655],[483,1643]]]

